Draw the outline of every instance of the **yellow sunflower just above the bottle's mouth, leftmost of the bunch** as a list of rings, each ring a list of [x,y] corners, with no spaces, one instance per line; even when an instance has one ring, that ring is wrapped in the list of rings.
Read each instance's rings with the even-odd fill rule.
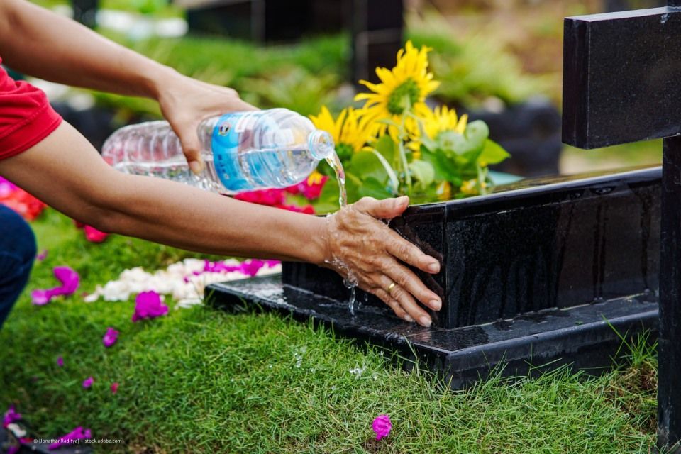
[[[350,159],[356,151],[362,150],[370,137],[367,120],[362,111],[348,107],[343,109],[336,120],[331,112],[322,106],[318,116],[311,115],[314,126],[328,132],[336,143],[336,153],[341,160]]]

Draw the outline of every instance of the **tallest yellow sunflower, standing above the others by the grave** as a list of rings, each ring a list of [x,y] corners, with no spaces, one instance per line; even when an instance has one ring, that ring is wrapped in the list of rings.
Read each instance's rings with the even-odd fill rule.
[[[416,49],[411,41],[407,41],[404,49],[397,52],[397,64],[392,70],[376,68],[381,80],[379,84],[360,80],[360,84],[371,90],[371,93],[355,96],[355,101],[365,100],[363,109],[367,118],[371,121],[387,118],[402,123],[402,114],[407,107],[418,116],[426,114],[428,106],[423,101],[439,85],[433,80],[433,73],[428,72],[430,50],[426,46]],[[382,133],[386,128],[381,124],[375,132]]]

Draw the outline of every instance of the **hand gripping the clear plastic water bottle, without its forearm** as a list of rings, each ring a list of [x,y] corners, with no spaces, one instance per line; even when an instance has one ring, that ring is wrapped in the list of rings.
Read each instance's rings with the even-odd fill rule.
[[[257,110],[242,101],[234,89],[207,84],[180,74],[167,80],[158,95],[158,102],[163,116],[179,137],[184,157],[195,174],[204,169],[201,143],[196,134],[199,123],[228,112]]]

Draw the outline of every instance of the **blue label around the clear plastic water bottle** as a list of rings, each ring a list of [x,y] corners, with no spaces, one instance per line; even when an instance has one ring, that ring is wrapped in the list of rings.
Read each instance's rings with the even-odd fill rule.
[[[221,116],[213,128],[211,139],[215,171],[223,186],[233,192],[252,189],[239,163],[239,119],[240,115],[235,114]]]

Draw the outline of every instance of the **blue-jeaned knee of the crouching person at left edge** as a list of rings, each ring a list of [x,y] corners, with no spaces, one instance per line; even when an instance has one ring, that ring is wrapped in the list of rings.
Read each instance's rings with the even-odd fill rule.
[[[0,205],[0,328],[26,287],[35,259],[35,236],[21,216]]]

